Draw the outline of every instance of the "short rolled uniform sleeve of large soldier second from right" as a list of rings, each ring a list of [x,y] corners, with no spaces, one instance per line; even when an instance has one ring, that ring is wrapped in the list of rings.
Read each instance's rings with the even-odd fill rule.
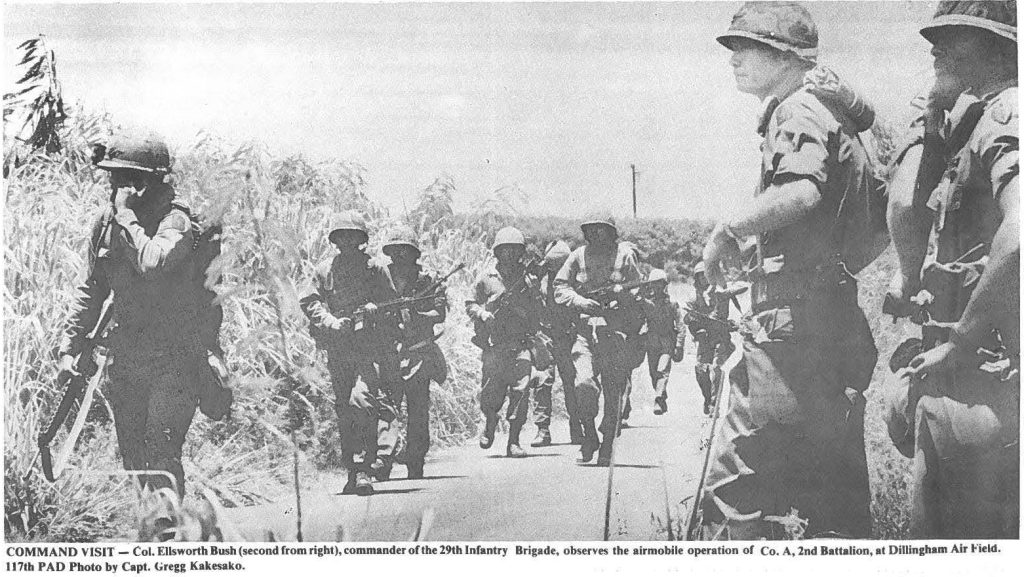
[[[813,96],[808,95],[809,98]],[[777,126],[766,142],[772,151],[772,182],[808,178],[818,187],[828,179],[828,126],[822,110],[799,98],[790,98],[775,111]]]

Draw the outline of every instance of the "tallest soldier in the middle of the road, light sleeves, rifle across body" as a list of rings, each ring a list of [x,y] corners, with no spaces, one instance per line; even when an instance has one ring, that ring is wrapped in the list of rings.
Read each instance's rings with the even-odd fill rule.
[[[583,425],[582,460],[589,462],[600,449],[598,464],[607,466],[629,373],[633,368],[633,341],[643,326],[643,314],[635,298],[617,297],[605,306],[587,293],[609,285],[636,282],[641,278],[637,254],[629,243],[618,242],[618,229],[611,216],[584,222],[587,241],[572,251],[555,276],[555,301],[582,315],[572,345],[577,372],[577,412]],[[597,436],[598,400],[604,394],[604,415]]]

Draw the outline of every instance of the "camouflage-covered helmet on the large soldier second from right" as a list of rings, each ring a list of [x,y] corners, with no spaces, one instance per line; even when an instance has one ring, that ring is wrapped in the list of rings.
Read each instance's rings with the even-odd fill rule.
[[[796,2],[746,2],[718,41],[731,50],[736,38],[749,38],[806,60],[818,57],[818,28],[807,8]]]

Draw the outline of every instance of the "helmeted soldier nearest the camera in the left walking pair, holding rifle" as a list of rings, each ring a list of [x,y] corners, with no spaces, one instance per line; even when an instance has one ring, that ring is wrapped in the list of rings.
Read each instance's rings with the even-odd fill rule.
[[[360,214],[339,214],[328,239],[338,254],[317,266],[312,291],[300,305],[310,335],[327,352],[341,459],[348,471],[342,493],[370,495],[377,460],[377,397],[381,381],[392,380],[382,359],[393,357],[386,331],[376,327],[376,303],[397,295],[387,269],[371,262],[364,250],[370,236]]]

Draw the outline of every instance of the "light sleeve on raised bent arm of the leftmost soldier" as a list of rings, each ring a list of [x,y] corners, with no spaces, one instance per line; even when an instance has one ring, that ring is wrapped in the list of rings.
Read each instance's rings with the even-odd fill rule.
[[[122,210],[115,219],[128,257],[143,278],[172,271],[191,255],[191,221],[179,210],[164,216],[152,237],[145,234],[133,210]]]

